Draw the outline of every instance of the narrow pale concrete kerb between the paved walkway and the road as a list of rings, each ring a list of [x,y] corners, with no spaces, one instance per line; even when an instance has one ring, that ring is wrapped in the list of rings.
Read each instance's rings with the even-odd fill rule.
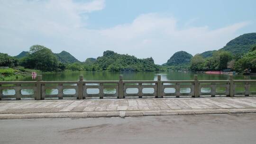
[[[168,115],[202,115],[202,114],[236,114],[256,113],[256,108],[230,108],[230,109],[182,109],[171,111],[94,111],[94,112],[54,112],[54,113],[19,113],[0,114],[0,119],[23,118],[84,118],[84,117],[142,117],[142,116],[168,116]]]

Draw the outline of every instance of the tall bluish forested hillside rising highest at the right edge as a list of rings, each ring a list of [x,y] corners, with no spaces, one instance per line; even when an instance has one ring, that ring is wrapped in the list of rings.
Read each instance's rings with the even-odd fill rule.
[[[226,46],[219,50],[229,51],[232,54],[244,54],[254,44],[256,44],[256,33],[248,33],[232,39]]]

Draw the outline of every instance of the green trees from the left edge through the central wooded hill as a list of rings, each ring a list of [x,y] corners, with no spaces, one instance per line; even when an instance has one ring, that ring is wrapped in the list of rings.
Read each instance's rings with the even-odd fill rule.
[[[160,66],[151,58],[138,59],[128,54],[117,54],[113,51],[105,51],[103,56],[97,59],[88,58],[85,62],[62,63],[52,51],[43,45],[33,45],[29,52],[21,58],[0,55],[0,65],[19,67],[25,69],[37,69],[43,72],[52,71],[159,71]]]

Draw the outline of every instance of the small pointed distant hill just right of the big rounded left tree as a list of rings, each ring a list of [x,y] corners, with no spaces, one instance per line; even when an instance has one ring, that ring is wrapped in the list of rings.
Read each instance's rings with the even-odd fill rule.
[[[60,61],[61,63],[75,63],[75,62],[79,62],[73,55],[71,55],[70,53],[66,52],[66,51],[62,51],[59,54],[54,54],[58,61]]]

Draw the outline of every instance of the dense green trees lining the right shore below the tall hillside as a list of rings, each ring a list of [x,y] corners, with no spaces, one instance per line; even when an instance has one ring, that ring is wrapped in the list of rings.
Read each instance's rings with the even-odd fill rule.
[[[245,69],[251,69],[256,72],[256,45],[254,45],[246,54],[233,55],[228,51],[216,51],[212,56],[203,58],[200,54],[192,57],[190,69],[192,71],[220,71],[233,70],[243,72]]]

